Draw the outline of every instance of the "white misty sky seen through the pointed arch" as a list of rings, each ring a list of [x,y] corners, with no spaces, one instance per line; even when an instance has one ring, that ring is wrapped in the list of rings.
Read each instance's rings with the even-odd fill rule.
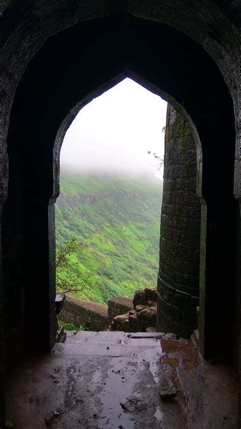
[[[89,102],[66,132],[61,168],[79,173],[151,174],[159,178],[167,102],[130,78]]]

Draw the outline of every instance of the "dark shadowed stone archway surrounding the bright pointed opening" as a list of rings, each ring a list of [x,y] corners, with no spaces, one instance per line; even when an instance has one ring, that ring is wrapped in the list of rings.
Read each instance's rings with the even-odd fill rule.
[[[49,290],[54,272],[48,257],[54,236],[48,219],[55,193],[52,151],[57,130],[73,105],[126,69],[170,94],[192,118],[200,137],[199,193],[205,203],[202,351],[208,356],[222,350],[230,326],[227,320],[232,314],[238,320],[233,304],[239,287],[234,287],[238,211],[233,197],[238,49],[232,21],[236,15],[221,8],[217,20],[217,5],[197,2],[196,6],[182,9],[175,2],[163,2],[160,9],[156,4],[151,8],[130,2],[123,9],[119,3],[111,7],[111,2],[96,2],[83,9],[66,2],[42,9],[34,3],[31,12],[27,6],[4,10],[2,202],[8,183],[6,142],[10,166],[2,221],[5,314],[10,306],[14,309],[14,317],[5,319],[7,356],[31,344],[36,351],[49,351],[54,342],[54,293]],[[236,196],[241,195],[238,169],[237,159]],[[41,264],[38,277],[36,260]],[[239,325],[230,329],[235,338],[230,347],[236,351]]]

